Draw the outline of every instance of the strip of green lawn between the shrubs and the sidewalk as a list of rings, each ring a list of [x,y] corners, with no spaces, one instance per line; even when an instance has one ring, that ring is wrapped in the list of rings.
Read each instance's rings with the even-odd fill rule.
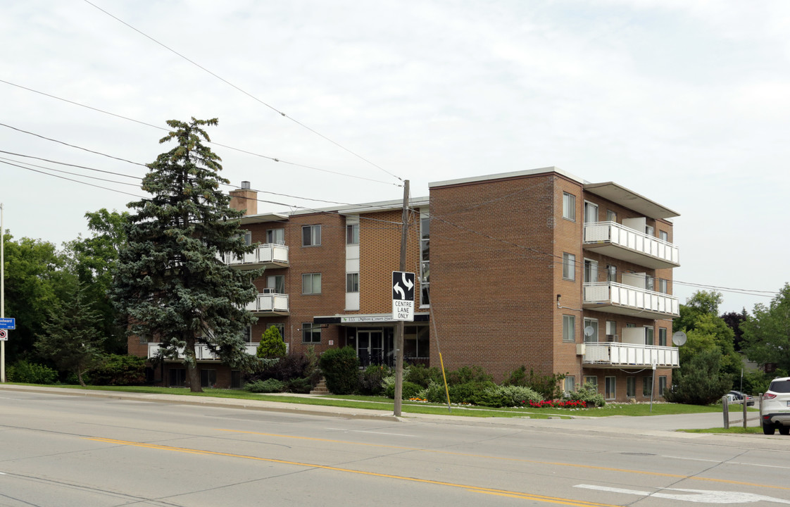
[[[351,407],[368,410],[393,411],[393,400],[382,396],[288,396],[275,394],[256,394],[238,389],[204,389],[204,392],[190,392],[188,389],[148,387],[148,386],[107,386],[91,385],[81,388],[79,385],[58,385],[42,387],[59,387],[63,389],[91,389],[99,391],[118,392],[143,392],[151,394],[169,394],[180,396],[210,396],[217,398],[236,398],[240,400],[267,400],[280,403],[323,405],[333,407]],[[750,411],[753,411],[750,408]],[[562,409],[562,408],[491,408],[491,407],[462,407],[453,405],[448,410],[446,404],[427,404],[404,400],[402,412],[404,414],[437,414],[437,415],[463,415],[468,417],[531,417],[533,419],[547,417],[608,417],[611,415],[649,416],[669,414],[695,414],[700,412],[720,412],[720,405],[683,405],[654,403],[651,411],[650,404],[607,404],[600,408]],[[732,411],[732,408],[731,408]],[[743,428],[742,428],[743,430]]]

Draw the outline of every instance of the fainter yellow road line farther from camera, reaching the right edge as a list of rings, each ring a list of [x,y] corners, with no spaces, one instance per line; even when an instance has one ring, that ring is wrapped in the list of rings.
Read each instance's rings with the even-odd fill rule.
[[[381,445],[381,444],[366,444],[363,442],[355,442],[355,441],[347,441],[347,440],[333,440],[330,438],[314,438],[314,437],[299,437],[295,435],[283,435],[283,434],[276,434],[276,433],[261,433],[258,431],[243,431],[243,430],[225,430],[223,428],[215,428],[216,431],[227,431],[228,433],[242,433],[242,434],[253,434],[253,435],[262,435],[265,437],[277,437],[277,438],[292,438],[295,440],[309,440],[309,441],[324,441],[324,442],[331,442],[334,444],[344,444],[344,445],[367,445],[370,447],[380,447],[382,449],[403,449],[408,451],[419,451],[423,453],[435,453],[435,454],[447,454],[450,456],[466,456],[472,458],[484,458],[487,460],[504,460],[504,461],[517,461],[519,463],[531,463],[531,464],[542,464],[542,465],[554,465],[555,467],[571,467],[571,468],[589,468],[591,470],[603,470],[603,471],[617,471],[623,472],[627,474],[641,474],[641,475],[654,475],[656,477],[671,477],[673,479],[690,479],[696,481],[708,481],[712,483],[726,483],[726,484],[739,484],[740,486],[756,486],[756,487],[765,487],[765,488],[772,488],[775,490],[790,490],[788,486],[770,486],[768,484],[758,484],[758,483],[744,483],[743,481],[733,481],[729,479],[711,479],[707,477],[697,477],[695,475],[679,475],[679,474],[665,474],[660,471],[642,471],[642,470],[631,470],[629,468],[611,468],[611,467],[599,467],[596,465],[585,465],[585,464],[575,464],[575,463],[562,463],[559,461],[539,461],[539,460],[525,460],[523,458],[506,458],[506,457],[499,457],[499,456],[486,456],[484,454],[471,454],[471,453],[453,453],[452,451],[441,451],[438,449],[422,449],[419,447],[405,447],[400,445]]]

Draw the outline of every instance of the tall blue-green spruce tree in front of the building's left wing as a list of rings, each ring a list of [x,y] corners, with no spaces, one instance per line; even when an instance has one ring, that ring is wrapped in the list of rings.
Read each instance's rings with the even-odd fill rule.
[[[158,338],[164,358],[182,351],[192,392],[202,391],[196,345],[231,367],[246,369],[257,360],[246,353],[243,331],[254,322],[245,306],[255,299],[252,280],[263,270],[240,272],[217,257],[241,256],[254,246],[239,235],[243,212],[231,209],[219,190],[228,183],[218,175],[220,157],[203,144],[210,139],[202,127],[216,124],[216,118],[167,122],[173,130],[160,143],[178,145],[148,164],[142,189],[152,197],[129,204],[136,212],[111,288],[130,334]]]

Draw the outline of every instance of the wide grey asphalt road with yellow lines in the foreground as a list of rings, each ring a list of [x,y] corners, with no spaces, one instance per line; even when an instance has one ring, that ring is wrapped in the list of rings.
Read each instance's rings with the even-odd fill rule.
[[[2,388],[0,506],[790,505],[779,435],[281,405]]]

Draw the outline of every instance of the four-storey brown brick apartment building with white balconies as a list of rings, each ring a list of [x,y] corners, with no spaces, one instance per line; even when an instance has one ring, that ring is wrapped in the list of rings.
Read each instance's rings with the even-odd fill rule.
[[[259,214],[245,186],[231,207],[246,209],[246,238],[259,246],[225,261],[266,268],[249,306],[250,353],[276,325],[292,353],[349,345],[363,365],[393,364],[401,201]],[[438,366],[441,351],[446,369],[482,366],[497,381],[523,365],[567,374],[566,390],[594,382],[608,400],[649,400],[651,389],[658,398],[671,385],[676,212],[555,167],[434,182],[409,208],[407,271],[418,287],[407,362]],[[130,339],[131,354],[157,348]],[[240,385],[208,351],[198,357],[204,385]],[[182,385],[182,368],[165,362],[156,379]]]

